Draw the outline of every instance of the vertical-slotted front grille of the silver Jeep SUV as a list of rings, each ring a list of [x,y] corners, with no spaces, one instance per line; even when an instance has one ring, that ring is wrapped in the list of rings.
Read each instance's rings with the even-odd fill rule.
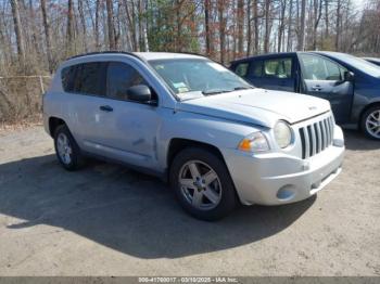
[[[312,157],[331,145],[333,126],[333,118],[329,116],[322,120],[300,128],[302,158]]]

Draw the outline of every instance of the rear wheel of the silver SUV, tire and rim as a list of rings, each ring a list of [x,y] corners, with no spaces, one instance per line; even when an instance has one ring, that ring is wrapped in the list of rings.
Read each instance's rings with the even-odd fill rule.
[[[84,165],[80,150],[66,125],[56,127],[54,147],[58,160],[66,170],[73,171]]]

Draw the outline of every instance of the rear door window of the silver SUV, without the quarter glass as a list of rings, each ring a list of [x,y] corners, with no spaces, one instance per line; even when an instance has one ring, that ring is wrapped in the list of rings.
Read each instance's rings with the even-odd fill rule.
[[[89,62],[77,65],[74,92],[83,94],[104,95],[104,62]]]

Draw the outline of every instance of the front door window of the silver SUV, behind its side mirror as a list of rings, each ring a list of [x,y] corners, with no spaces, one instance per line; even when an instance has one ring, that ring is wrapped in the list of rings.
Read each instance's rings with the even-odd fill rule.
[[[131,66],[122,62],[111,62],[106,73],[106,95],[111,99],[128,101],[128,88],[148,85]]]

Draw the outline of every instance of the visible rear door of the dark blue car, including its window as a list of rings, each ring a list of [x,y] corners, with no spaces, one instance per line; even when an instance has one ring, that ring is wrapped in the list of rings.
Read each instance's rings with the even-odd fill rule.
[[[292,56],[257,59],[251,62],[246,77],[258,88],[294,92],[294,70]]]

